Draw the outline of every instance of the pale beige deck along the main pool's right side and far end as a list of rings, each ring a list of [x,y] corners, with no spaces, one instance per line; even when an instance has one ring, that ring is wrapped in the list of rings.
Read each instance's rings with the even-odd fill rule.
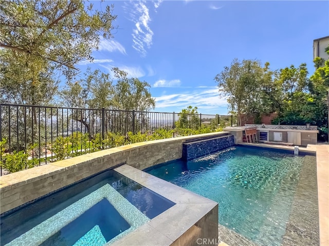
[[[273,149],[294,150],[294,146],[281,146],[271,144],[249,144],[239,143],[245,146],[268,147]],[[329,144],[318,143],[299,147],[300,151],[316,152],[317,179],[318,179],[318,202],[319,202],[319,234],[320,245],[329,245]]]

